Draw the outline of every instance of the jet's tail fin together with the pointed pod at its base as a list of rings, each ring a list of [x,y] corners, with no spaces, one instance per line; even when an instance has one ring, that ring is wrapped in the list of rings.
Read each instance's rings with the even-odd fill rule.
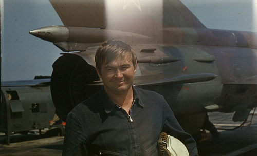
[[[30,34],[52,42],[65,52],[85,51],[88,47],[99,46],[109,38],[129,45],[189,44],[192,41],[208,41],[207,38],[192,40],[192,35],[198,37],[200,35],[197,34],[211,34],[179,0],[50,2],[64,26],[44,27],[32,30]],[[181,40],[181,36],[186,39]]]

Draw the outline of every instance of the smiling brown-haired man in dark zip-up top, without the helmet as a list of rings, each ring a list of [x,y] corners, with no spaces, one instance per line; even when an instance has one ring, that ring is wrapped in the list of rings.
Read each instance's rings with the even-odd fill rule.
[[[103,88],[68,114],[63,155],[158,155],[162,131],[197,155],[163,96],[132,86],[137,62],[129,45],[108,40],[95,61]]]

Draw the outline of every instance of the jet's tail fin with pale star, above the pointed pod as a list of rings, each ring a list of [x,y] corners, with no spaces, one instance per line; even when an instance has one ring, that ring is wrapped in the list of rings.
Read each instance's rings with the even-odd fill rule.
[[[204,27],[188,8],[180,1],[120,1],[120,0],[50,0],[53,8],[58,13],[63,24],[68,27],[108,28],[128,30],[127,28],[140,29],[142,23],[150,24],[150,17],[156,21],[175,27]],[[150,3],[155,3],[150,6]],[[154,7],[150,9],[149,7]],[[171,8],[172,7],[172,8]],[[150,12],[149,12],[150,11]],[[141,12],[135,16],[135,12]],[[163,18],[165,14],[165,18]],[[121,18],[122,17],[122,18]],[[134,18],[131,23],[131,17]],[[120,18],[121,21],[110,21]],[[159,20],[157,20],[159,18]],[[183,18],[183,21],[181,20]],[[127,26],[127,21],[130,25]],[[161,22],[159,21],[159,22]],[[139,23],[138,23],[139,22]],[[138,23],[138,24],[137,24]],[[149,25],[150,26],[150,25]],[[126,29],[124,29],[126,27]],[[131,29],[132,30],[132,29]]]

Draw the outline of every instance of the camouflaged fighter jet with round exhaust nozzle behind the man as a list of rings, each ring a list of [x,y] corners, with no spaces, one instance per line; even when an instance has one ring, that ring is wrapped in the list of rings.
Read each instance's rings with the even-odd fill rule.
[[[98,46],[121,40],[137,54],[135,86],[162,94],[183,129],[195,134],[206,112],[245,120],[257,106],[256,34],[206,28],[179,0],[50,0],[63,26],[29,33],[62,53],[52,65],[56,113],[67,113],[103,85]]]

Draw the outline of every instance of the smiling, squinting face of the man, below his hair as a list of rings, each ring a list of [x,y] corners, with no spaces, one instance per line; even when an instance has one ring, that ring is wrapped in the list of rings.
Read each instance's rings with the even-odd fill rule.
[[[131,89],[136,69],[134,69],[132,61],[125,57],[125,60],[115,58],[108,64],[103,63],[101,73],[99,73],[98,69],[97,72],[103,80],[107,94],[122,94]]]

